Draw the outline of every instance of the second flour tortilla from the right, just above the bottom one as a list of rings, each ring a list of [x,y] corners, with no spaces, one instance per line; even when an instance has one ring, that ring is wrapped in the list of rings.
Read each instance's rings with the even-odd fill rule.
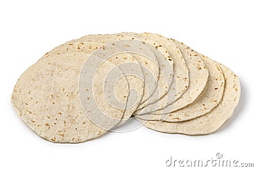
[[[198,53],[198,55],[200,55],[200,53]],[[204,90],[193,103],[169,114],[161,114],[162,111],[156,111],[154,115],[144,114],[137,115],[136,117],[143,120],[182,122],[205,115],[215,108],[220,103],[223,96],[225,80],[223,73],[216,62],[204,55],[202,55],[202,59],[204,60],[205,66],[209,71],[209,77]]]

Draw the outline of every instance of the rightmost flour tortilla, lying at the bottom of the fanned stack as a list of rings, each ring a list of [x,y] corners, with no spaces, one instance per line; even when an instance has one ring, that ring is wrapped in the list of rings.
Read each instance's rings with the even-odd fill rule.
[[[218,63],[224,78],[225,87],[223,97],[220,104],[216,106],[209,113],[201,117],[187,120],[184,122],[160,122],[160,121],[145,121],[136,118],[145,127],[167,133],[181,133],[181,134],[211,134],[218,130],[221,125],[230,118],[239,102],[241,87],[239,78],[228,67]]]

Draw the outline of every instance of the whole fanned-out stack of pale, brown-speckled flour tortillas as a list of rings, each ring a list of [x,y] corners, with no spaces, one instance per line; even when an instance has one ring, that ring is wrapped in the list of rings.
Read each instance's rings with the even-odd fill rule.
[[[19,117],[53,143],[98,138],[135,118],[148,129],[210,134],[232,116],[239,78],[154,33],[88,35],[60,45],[17,81]]]

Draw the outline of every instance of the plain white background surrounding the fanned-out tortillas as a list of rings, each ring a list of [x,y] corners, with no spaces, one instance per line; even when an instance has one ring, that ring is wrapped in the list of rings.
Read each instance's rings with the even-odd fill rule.
[[[171,156],[205,160],[218,152],[256,166],[254,2],[1,1],[0,169],[172,169]],[[45,141],[20,120],[10,97],[27,67],[70,39],[124,31],[163,34],[230,67],[242,87],[234,116],[205,136],[141,127],[78,145]]]

